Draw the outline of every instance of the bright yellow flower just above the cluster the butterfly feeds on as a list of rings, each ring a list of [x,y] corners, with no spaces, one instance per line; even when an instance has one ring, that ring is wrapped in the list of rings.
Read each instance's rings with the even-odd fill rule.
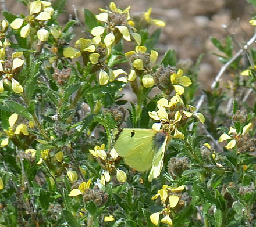
[[[189,87],[192,84],[190,78],[183,75],[183,70],[181,69],[177,71],[177,74],[173,73],[170,75],[170,81],[178,95],[182,95],[184,93],[183,87]]]

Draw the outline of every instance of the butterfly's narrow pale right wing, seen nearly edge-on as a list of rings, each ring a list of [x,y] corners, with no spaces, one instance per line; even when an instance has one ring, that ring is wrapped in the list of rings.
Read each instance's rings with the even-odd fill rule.
[[[162,138],[161,138],[162,140]],[[150,170],[150,174],[148,175],[148,181],[152,181],[152,179],[157,178],[161,170],[163,168],[163,157],[165,156],[165,148],[168,141],[168,136],[165,136],[165,140],[162,145],[159,147],[152,161],[152,168]]]

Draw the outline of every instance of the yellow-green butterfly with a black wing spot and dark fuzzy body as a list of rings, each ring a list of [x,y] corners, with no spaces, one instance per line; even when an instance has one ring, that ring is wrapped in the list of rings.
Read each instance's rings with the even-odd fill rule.
[[[148,181],[157,178],[169,136],[166,132],[144,128],[124,128],[114,145],[125,163],[139,172],[150,170]]]

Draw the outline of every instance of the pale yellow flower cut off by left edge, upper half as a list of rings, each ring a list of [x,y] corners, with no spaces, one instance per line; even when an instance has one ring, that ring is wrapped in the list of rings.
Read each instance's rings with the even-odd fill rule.
[[[12,54],[12,62],[6,60],[5,62],[0,61],[0,74],[2,74],[2,79],[0,80],[0,93],[4,91],[3,82],[5,84],[12,83],[12,90],[15,93],[22,93],[23,87],[16,81],[13,77],[17,74],[20,67],[23,66],[24,60],[20,58],[20,52],[14,52]],[[9,64],[12,64],[12,68],[9,68]]]

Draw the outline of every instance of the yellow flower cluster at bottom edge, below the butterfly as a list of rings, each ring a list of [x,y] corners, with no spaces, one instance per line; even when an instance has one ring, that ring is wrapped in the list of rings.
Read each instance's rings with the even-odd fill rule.
[[[177,206],[180,201],[180,191],[184,190],[184,185],[179,186],[177,188],[172,188],[168,185],[163,185],[162,189],[158,190],[158,193],[152,197],[152,200],[160,197],[161,203],[163,205],[163,210],[159,212],[155,212],[150,215],[150,220],[154,225],[158,225],[159,217],[162,214],[164,217],[160,222],[168,224],[172,226],[172,210]]]

